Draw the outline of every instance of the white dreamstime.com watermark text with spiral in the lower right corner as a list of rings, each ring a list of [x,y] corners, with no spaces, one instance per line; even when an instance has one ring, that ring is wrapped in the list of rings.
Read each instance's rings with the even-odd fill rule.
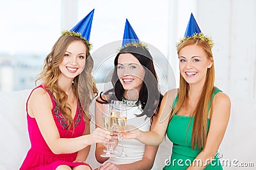
[[[207,166],[207,165],[211,165],[211,166],[222,166],[222,167],[254,167],[254,163],[253,162],[240,162],[237,159],[222,159],[223,158],[223,154],[221,152],[217,152],[215,155],[216,159],[206,159],[204,162],[201,159],[171,159],[171,157],[169,157],[169,159],[164,160],[164,164],[165,166],[198,166],[198,167],[202,167],[202,166]]]

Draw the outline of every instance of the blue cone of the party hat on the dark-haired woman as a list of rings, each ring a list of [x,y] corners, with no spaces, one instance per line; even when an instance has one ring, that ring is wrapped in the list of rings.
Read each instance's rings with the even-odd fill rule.
[[[122,46],[125,46],[129,43],[140,43],[140,40],[136,33],[134,32],[134,30],[132,29],[131,24],[126,19]]]

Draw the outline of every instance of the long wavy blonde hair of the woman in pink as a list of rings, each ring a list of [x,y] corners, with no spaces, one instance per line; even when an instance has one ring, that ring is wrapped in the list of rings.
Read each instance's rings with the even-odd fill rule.
[[[45,58],[42,72],[38,74],[35,81],[36,83],[37,81],[42,80],[44,89],[51,90],[52,95],[56,99],[56,104],[60,108],[61,114],[67,120],[68,131],[70,130],[70,127],[73,127],[74,129],[73,119],[71,117],[71,107],[67,104],[67,94],[58,86],[58,78],[61,74],[59,66],[63,60],[67,47],[74,41],[81,41],[84,43],[82,39],[76,36],[61,36],[58,41],[56,41],[54,46],[52,46],[51,52]],[[84,43],[84,45],[86,46],[86,63],[81,74],[74,78],[72,88],[83,107],[83,118],[86,119],[87,117],[87,120],[90,120],[88,108],[92,103],[93,98],[97,96],[98,90],[92,76],[93,59],[90,55],[89,46],[86,43]]]

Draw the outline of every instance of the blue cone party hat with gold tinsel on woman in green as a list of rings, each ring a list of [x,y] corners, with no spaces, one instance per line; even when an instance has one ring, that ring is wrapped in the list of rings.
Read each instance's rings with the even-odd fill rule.
[[[209,43],[211,47],[213,46],[212,39],[209,36],[205,36],[198,27],[196,20],[193,16],[193,13],[191,13],[190,15],[188,26],[184,34],[184,38],[180,39],[177,46],[179,46],[180,43],[183,43],[188,39],[201,39],[202,41],[207,41],[207,43]]]

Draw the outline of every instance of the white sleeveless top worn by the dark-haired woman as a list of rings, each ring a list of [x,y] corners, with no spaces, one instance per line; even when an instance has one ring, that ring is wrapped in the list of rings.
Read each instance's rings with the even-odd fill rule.
[[[150,131],[150,118],[147,115],[143,117],[136,117],[136,115],[140,115],[141,104],[137,107],[127,107],[127,125],[134,125],[138,127],[141,131]],[[146,119],[145,119],[146,118]],[[124,158],[109,158],[108,162],[113,164],[129,164],[132,162],[136,162],[141,160],[145,151],[145,144],[141,143],[136,139],[124,139],[124,152],[127,157]],[[115,150],[120,154],[122,152],[122,143],[121,139],[118,138],[118,146],[116,146]],[[154,166],[152,169],[157,169],[157,165],[154,162]]]

